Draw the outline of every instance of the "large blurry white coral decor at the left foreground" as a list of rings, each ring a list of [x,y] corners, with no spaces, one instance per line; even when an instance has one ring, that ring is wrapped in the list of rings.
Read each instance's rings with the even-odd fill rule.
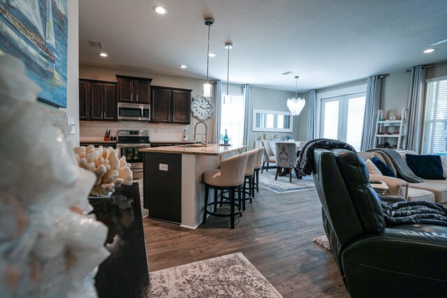
[[[94,174],[65,113],[36,103],[22,61],[0,55],[0,297],[96,297],[108,228],[89,214]]]

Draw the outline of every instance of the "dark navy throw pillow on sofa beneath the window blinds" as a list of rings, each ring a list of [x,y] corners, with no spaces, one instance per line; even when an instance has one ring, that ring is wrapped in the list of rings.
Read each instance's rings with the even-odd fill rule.
[[[405,154],[406,164],[416,176],[423,179],[445,180],[441,156]]]

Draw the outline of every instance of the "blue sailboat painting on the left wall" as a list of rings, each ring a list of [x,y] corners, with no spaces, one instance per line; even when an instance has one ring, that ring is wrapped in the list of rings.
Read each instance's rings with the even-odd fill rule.
[[[67,105],[67,0],[0,0],[0,54],[24,61],[38,99]]]

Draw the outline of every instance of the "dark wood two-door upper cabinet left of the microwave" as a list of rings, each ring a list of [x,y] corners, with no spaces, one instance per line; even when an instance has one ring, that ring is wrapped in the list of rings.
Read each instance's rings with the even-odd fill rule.
[[[117,83],[96,80],[79,81],[79,119],[117,120]]]

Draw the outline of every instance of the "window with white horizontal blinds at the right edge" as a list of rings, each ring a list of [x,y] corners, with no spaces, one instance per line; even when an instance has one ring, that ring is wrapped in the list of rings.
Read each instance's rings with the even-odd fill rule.
[[[447,76],[426,80],[422,154],[447,151]]]

